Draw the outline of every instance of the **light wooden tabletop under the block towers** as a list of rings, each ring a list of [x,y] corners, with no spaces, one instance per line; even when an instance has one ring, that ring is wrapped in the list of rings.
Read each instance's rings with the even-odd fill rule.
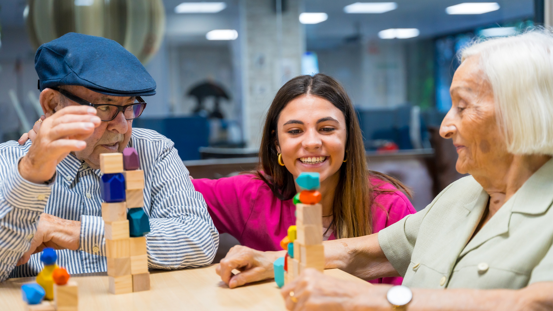
[[[273,280],[229,289],[215,273],[216,266],[156,270],[151,272],[150,291],[119,295],[108,293],[107,276],[72,279],[79,283],[79,311],[286,310]],[[327,269],[325,274],[367,283],[339,269]],[[34,279],[11,278],[0,283],[0,310],[24,310],[20,287]]]

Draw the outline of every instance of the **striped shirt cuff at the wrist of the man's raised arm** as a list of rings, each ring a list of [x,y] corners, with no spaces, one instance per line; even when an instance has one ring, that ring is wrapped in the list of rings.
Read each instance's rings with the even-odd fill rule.
[[[21,157],[23,158],[23,157]],[[2,183],[2,193],[9,205],[14,208],[44,212],[50,198],[51,185],[55,182],[57,172],[49,184],[35,184],[25,180],[19,173],[19,158],[6,175]]]

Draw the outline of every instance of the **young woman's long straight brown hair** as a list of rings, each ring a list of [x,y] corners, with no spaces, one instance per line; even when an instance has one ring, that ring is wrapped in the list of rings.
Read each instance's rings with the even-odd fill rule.
[[[332,105],[342,111],[346,118],[347,154],[345,158],[347,161],[340,168],[340,180],[338,180],[332,206],[333,229],[336,238],[372,234],[370,207],[378,192],[389,192],[390,190],[374,189],[369,183],[369,177],[385,180],[408,195],[410,193],[397,179],[367,169],[365,148],[356,112],[346,91],[332,77],[324,74],[297,76],[286,82],[276,92],[267,112],[262,133],[259,149],[261,170],[255,171],[255,174],[269,186],[280,200],[290,200],[295,195],[296,187],[293,175],[276,161],[278,157],[275,147],[275,142],[278,142],[276,123],[284,107],[301,95],[318,96],[330,101]]]

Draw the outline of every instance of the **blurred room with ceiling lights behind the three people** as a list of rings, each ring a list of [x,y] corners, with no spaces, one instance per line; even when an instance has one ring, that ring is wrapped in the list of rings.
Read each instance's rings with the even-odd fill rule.
[[[195,178],[254,169],[264,115],[300,74],[339,80],[357,108],[369,168],[414,190],[420,210],[461,177],[438,134],[458,50],[551,24],[552,0],[2,0],[0,142],[41,115],[34,54],[67,32],[136,55],[157,94],[134,127],[173,139]]]

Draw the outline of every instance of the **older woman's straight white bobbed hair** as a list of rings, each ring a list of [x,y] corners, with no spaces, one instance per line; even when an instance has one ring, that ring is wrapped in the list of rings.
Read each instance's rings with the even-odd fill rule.
[[[527,30],[479,40],[461,51],[477,55],[492,86],[498,125],[512,154],[553,155],[553,34]]]

